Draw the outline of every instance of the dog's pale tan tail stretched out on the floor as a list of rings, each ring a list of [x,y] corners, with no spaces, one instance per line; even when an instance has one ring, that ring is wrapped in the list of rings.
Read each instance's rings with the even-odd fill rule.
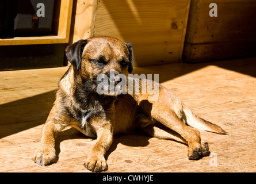
[[[182,119],[185,120],[186,124],[191,127],[202,129],[204,131],[215,132],[220,134],[226,134],[218,125],[213,124],[212,122],[206,121],[203,118],[196,116],[189,108],[183,106]]]

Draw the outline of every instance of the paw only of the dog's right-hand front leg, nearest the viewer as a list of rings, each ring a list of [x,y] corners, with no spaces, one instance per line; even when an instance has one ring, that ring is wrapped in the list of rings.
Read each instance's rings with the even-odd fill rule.
[[[89,155],[83,165],[92,172],[108,170],[108,164],[106,164],[104,156]]]

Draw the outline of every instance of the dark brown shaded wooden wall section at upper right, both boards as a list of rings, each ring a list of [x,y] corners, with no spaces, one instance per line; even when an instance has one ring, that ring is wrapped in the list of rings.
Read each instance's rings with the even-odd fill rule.
[[[256,1],[215,0],[217,17],[209,16],[211,1],[192,0],[186,32],[186,62],[256,55]]]

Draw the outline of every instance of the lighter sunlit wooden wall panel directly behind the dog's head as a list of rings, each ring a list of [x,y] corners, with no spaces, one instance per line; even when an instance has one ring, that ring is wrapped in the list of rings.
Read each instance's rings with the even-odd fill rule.
[[[133,44],[135,66],[181,61],[190,0],[75,3],[70,44],[95,35],[112,36]]]

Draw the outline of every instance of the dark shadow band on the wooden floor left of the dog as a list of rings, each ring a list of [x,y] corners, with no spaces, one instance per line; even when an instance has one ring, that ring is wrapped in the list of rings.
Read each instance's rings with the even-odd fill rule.
[[[0,105],[0,138],[44,124],[55,101],[55,91]]]

